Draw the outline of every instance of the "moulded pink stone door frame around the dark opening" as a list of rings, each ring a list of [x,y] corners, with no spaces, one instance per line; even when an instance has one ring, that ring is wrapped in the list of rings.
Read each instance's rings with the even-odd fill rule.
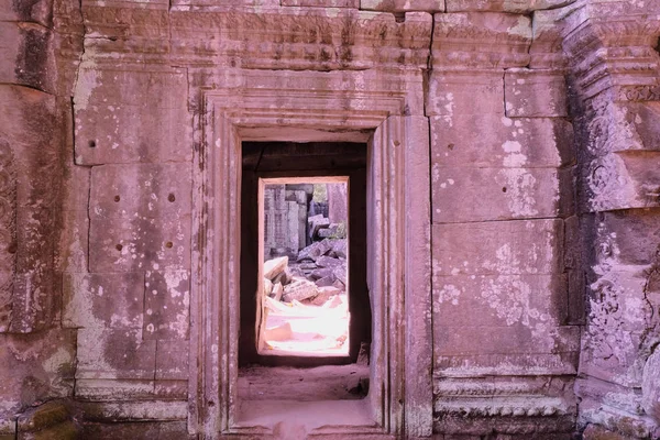
[[[374,77],[375,76],[375,77]],[[366,398],[376,426],[355,436],[432,432],[430,178],[421,73],[245,72],[199,89],[194,158],[189,431],[237,428],[241,142],[369,140],[367,283],[373,339]],[[232,78],[232,79],[227,79]],[[238,79],[237,79],[238,78]],[[346,84],[350,81],[350,84]],[[355,87],[355,82],[361,86]],[[314,89],[311,84],[324,84]],[[383,88],[388,87],[388,90]],[[381,88],[381,89],[378,89]],[[419,105],[417,105],[419,106]],[[414,108],[415,110],[415,108]],[[417,109],[422,114],[421,109]],[[413,113],[416,114],[416,113]],[[324,432],[346,432],[345,427]],[[321,433],[321,432],[319,432]]]

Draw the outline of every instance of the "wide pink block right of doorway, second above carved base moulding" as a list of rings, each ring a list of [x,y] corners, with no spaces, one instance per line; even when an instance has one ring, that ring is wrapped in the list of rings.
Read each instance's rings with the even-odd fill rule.
[[[563,221],[435,224],[435,275],[561,274]]]

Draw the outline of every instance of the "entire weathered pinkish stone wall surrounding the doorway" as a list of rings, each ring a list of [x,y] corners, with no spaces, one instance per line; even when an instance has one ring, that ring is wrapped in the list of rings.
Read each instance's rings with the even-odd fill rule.
[[[386,145],[430,191],[382,223],[418,228],[387,435],[660,433],[657,1],[16,0],[0,35],[0,437],[55,398],[94,438],[230,424],[198,262],[238,261],[239,135]]]

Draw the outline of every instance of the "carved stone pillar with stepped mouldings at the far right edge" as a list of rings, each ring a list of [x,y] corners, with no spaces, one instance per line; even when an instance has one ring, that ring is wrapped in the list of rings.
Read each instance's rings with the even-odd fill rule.
[[[657,3],[587,2],[564,48],[579,143],[578,207],[586,284],[580,428],[658,436],[660,382],[660,34]],[[645,375],[646,374],[646,375]],[[654,433],[653,433],[654,432]],[[654,438],[654,437],[653,437]]]

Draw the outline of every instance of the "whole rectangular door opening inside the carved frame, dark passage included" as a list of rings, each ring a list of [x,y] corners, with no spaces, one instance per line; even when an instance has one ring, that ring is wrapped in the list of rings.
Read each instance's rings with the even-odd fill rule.
[[[360,400],[372,328],[366,144],[243,142],[242,151],[240,419],[254,422],[275,400]]]

